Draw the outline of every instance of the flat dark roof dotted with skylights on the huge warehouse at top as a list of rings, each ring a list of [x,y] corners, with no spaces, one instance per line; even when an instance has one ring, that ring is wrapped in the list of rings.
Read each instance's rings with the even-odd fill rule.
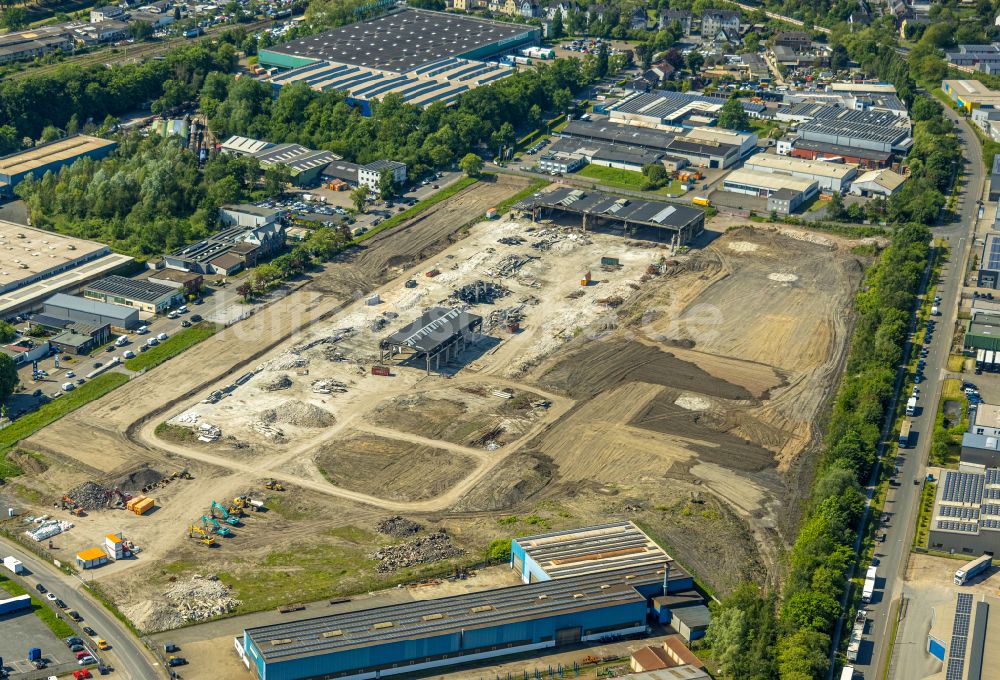
[[[538,29],[408,8],[268,49],[279,54],[404,72],[532,30]]]

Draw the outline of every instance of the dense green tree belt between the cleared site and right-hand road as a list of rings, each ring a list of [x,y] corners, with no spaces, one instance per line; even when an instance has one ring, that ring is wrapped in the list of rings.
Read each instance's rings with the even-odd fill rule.
[[[868,271],[855,300],[857,323],[798,538],[780,595],[746,584],[725,598],[707,643],[726,677],[819,680],[829,670],[839,595],[854,562],[865,484],[929,254],[930,231],[908,224]]]

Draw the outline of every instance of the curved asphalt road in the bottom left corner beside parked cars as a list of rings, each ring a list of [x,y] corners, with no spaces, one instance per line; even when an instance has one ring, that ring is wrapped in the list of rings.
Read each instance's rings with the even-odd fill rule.
[[[85,635],[81,626],[90,626],[97,631],[98,635],[111,645],[109,652],[103,652],[101,659],[115,668],[115,675],[118,677],[131,678],[132,680],[145,680],[146,678],[165,677],[166,671],[148,650],[139,642],[118,619],[111,615],[104,606],[93,599],[86,591],[85,584],[76,576],[69,576],[55,568],[54,565],[43,561],[34,554],[23,550],[13,541],[0,538],[3,544],[4,555],[14,555],[21,560],[28,570],[22,577],[13,577],[21,582],[33,594],[37,595],[35,584],[42,583],[49,592],[55,593],[62,599],[70,609],[75,609],[83,616],[80,624],[67,620],[77,634],[84,640],[89,640],[90,636]],[[48,600],[42,599],[51,606]],[[61,612],[61,610],[56,609]]]

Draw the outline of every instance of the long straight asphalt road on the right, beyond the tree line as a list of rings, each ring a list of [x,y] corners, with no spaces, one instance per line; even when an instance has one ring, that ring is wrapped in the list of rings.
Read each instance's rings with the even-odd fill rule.
[[[941,316],[937,317],[937,331],[928,345],[927,365],[924,369],[926,380],[920,384],[919,410],[911,419],[917,442],[913,448],[901,449],[895,461],[883,459],[883,465],[898,466],[893,475],[886,498],[887,522],[883,525],[885,542],[875,551],[879,559],[878,580],[875,595],[868,609],[869,623],[865,641],[862,644],[855,671],[866,680],[881,678],[889,652],[892,624],[900,597],[903,592],[903,575],[906,570],[910,546],[913,543],[917,507],[923,480],[927,474],[927,460],[930,451],[934,416],[941,396],[943,380],[947,377],[948,350],[953,329],[958,317],[959,299],[962,291],[965,265],[972,243],[975,241],[975,227],[979,209],[977,200],[982,196],[986,172],[983,168],[979,140],[967,127],[966,122],[950,109],[945,109],[949,117],[958,125],[959,140],[964,151],[964,176],[957,205],[958,218],[948,224],[933,229],[935,237],[946,239],[951,247],[950,261],[944,266],[941,281],[936,290],[925,291],[927,295],[940,295]],[[898,394],[898,392],[897,392]],[[909,394],[899,395],[906,399]],[[888,433],[889,440],[896,432]],[[876,476],[875,479],[878,479]],[[875,518],[879,521],[881,518]],[[845,623],[844,635],[849,635]],[[890,677],[892,673],[890,672]]]

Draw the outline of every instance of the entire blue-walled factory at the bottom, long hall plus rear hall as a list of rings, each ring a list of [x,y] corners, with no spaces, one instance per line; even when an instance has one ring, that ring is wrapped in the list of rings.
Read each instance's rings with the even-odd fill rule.
[[[532,582],[248,628],[237,652],[262,680],[414,673],[644,634],[664,583],[691,583],[631,522],[518,539],[515,551]]]

